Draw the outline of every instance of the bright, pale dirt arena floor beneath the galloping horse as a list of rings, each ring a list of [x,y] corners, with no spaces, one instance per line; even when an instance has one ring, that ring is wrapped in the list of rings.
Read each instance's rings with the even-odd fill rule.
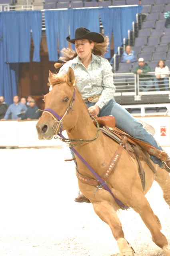
[[[0,149],[0,256],[116,256],[110,228],[78,204],[68,147]],[[154,183],[146,195],[170,244],[170,209]],[[137,256],[163,256],[132,209],[118,212]]]

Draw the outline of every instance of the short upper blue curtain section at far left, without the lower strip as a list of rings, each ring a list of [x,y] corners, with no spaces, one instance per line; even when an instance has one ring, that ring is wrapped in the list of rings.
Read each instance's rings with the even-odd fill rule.
[[[33,61],[40,61],[41,15],[41,11],[2,12],[6,62],[30,62],[31,30]]]

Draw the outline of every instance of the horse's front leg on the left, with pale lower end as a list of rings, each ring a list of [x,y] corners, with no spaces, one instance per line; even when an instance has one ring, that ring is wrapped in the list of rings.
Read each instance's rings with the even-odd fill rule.
[[[106,222],[111,230],[114,238],[118,242],[118,248],[120,250],[121,256],[133,256],[134,252],[124,238],[124,232],[122,230],[122,224],[116,214],[116,211],[114,210],[113,206],[107,202],[92,202],[94,211],[96,214],[104,221]]]

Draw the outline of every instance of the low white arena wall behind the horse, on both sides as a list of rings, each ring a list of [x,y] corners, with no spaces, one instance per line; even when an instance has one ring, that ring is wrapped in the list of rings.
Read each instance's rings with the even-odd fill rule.
[[[170,151],[170,116],[138,116],[143,122],[154,127],[154,137],[166,152]],[[38,120],[0,121],[0,147],[62,147],[59,139],[38,140],[36,123]],[[63,133],[67,137],[66,132]]]

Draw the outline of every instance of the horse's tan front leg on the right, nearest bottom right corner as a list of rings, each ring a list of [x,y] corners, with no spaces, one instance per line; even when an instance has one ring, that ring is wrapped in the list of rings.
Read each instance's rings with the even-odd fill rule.
[[[147,228],[150,230],[153,242],[163,249],[166,256],[170,256],[170,248],[166,237],[160,232],[161,225],[158,217],[153,213],[148,200],[140,191],[132,195],[132,208],[140,214]]]

